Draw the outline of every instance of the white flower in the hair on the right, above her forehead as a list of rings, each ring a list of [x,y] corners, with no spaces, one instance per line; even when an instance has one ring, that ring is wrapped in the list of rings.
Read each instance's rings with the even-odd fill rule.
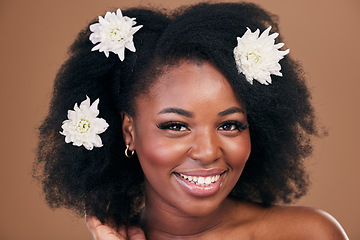
[[[268,27],[259,37],[260,30],[251,32],[248,28],[244,35],[237,38],[238,45],[234,48],[234,57],[239,73],[253,84],[253,80],[268,85],[271,84],[270,74],[282,76],[279,61],[289,53],[279,51],[284,43],[275,44],[278,33],[269,35]]]

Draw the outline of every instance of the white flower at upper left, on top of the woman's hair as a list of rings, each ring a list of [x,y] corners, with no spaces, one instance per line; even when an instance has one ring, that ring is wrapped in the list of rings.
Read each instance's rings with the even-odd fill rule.
[[[90,41],[93,44],[99,42],[91,51],[99,50],[104,52],[106,57],[109,57],[109,52],[113,52],[123,61],[125,48],[132,52],[136,51],[133,35],[142,25],[133,27],[136,24],[134,20],[135,18],[123,17],[120,9],[116,13],[107,12],[105,18],[99,16],[99,22],[90,25],[90,30],[93,32]]]

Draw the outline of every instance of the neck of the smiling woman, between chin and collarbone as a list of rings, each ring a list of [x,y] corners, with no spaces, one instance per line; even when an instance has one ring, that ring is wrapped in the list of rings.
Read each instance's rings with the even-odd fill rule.
[[[192,216],[147,197],[142,213],[146,239],[198,239],[209,232],[220,230],[225,225],[232,207],[232,201],[225,199],[213,212]]]

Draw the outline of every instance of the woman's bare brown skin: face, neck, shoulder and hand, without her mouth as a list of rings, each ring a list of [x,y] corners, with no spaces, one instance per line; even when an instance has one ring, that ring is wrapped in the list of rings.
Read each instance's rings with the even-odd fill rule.
[[[244,107],[211,64],[168,69],[137,98],[136,117],[123,117],[125,142],[145,174],[146,239],[347,239],[319,211],[263,208],[228,197],[250,155],[250,133]],[[188,191],[177,175],[209,170],[225,174],[206,196]],[[97,240],[145,239],[139,229],[114,230],[96,221],[88,226]]]

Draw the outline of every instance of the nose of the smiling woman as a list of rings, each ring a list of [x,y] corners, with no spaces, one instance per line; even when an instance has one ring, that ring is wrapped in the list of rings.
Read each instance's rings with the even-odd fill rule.
[[[211,129],[203,129],[194,133],[189,157],[193,160],[211,163],[220,158],[220,141],[216,132]]]

